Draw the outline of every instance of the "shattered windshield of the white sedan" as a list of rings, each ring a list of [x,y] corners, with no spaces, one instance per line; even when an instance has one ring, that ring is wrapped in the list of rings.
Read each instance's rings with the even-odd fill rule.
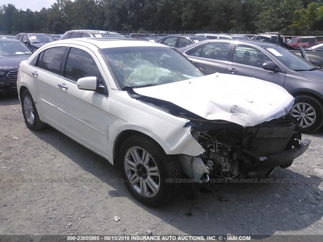
[[[160,85],[204,76],[172,48],[138,46],[101,51],[121,88]]]

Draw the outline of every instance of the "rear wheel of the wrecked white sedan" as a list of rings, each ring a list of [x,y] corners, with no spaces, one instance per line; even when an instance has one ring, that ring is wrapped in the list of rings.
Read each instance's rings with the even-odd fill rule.
[[[21,108],[25,123],[31,130],[40,130],[46,127],[46,124],[40,121],[37,108],[28,89],[21,94]]]

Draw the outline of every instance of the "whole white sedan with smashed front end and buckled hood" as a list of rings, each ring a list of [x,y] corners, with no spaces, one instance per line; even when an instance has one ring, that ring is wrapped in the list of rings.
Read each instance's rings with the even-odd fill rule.
[[[55,41],[21,63],[17,83],[30,129],[48,124],[117,165],[148,205],[172,198],[183,174],[198,183],[267,175],[310,143],[301,142],[284,88],[205,76],[153,42]]]

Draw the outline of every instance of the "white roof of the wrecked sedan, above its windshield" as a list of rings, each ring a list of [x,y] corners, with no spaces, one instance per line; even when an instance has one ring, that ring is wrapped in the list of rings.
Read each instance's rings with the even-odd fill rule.
[[[99,49],[103,48],[115,48],[115,47],[149,47],[149,46],[160,46],[167,47],[167,45],[159,44],[151,41],[141,41],[136,39],[127,39],[127,38],[71,38],[63,39],[50,42],[46,46],[57,45],[57,44],[82,44],[87,47],[96,47]]]

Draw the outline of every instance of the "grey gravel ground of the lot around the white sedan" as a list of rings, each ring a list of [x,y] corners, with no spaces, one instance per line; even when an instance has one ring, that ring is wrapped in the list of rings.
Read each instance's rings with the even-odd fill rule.
[[[186,185],[161,208],[135,201],[114,166],[58,131],[28,130],[16,96],[0,98],[0,137],[0,234],[323,234],[323,130],[267,183],[199,187],[195,200]]]

